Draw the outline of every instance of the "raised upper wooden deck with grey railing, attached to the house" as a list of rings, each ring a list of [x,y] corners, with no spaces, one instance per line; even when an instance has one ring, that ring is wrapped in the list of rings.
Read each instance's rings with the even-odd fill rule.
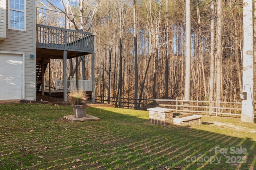
[[[36,24],[37,57],[63,59],[94,53],[96,34]]]

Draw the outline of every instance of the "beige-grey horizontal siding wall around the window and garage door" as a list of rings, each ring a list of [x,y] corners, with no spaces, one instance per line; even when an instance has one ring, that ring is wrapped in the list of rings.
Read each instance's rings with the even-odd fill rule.
[[[0,0],[1,4],[2,0]],[[36,12],[35,1],[26,0],[26,31],[8,29],[8,2],[6,2],[6,39],[0,42],[0,51],[24,53],[24,99],[36,99]],[[0,33],[1,34],[1,33]]]

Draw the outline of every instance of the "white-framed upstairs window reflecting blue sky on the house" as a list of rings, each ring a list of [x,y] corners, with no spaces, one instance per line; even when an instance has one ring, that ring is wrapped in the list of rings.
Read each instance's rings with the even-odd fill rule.
[[[9,29],[26,31],[26,0],[9,0]]]

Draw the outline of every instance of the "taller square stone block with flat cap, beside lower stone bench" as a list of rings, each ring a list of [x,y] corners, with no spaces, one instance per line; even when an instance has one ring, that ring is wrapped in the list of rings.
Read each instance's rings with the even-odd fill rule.
[[[173,123],[174,109],[154,107],[147,109],[149,111],[149,122],[153,124],[169,125]]]

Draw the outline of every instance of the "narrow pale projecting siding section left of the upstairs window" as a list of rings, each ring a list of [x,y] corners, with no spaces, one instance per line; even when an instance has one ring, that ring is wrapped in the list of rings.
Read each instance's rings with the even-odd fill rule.
[[[6,38],[6,0],[0,0],[0,41]]]

